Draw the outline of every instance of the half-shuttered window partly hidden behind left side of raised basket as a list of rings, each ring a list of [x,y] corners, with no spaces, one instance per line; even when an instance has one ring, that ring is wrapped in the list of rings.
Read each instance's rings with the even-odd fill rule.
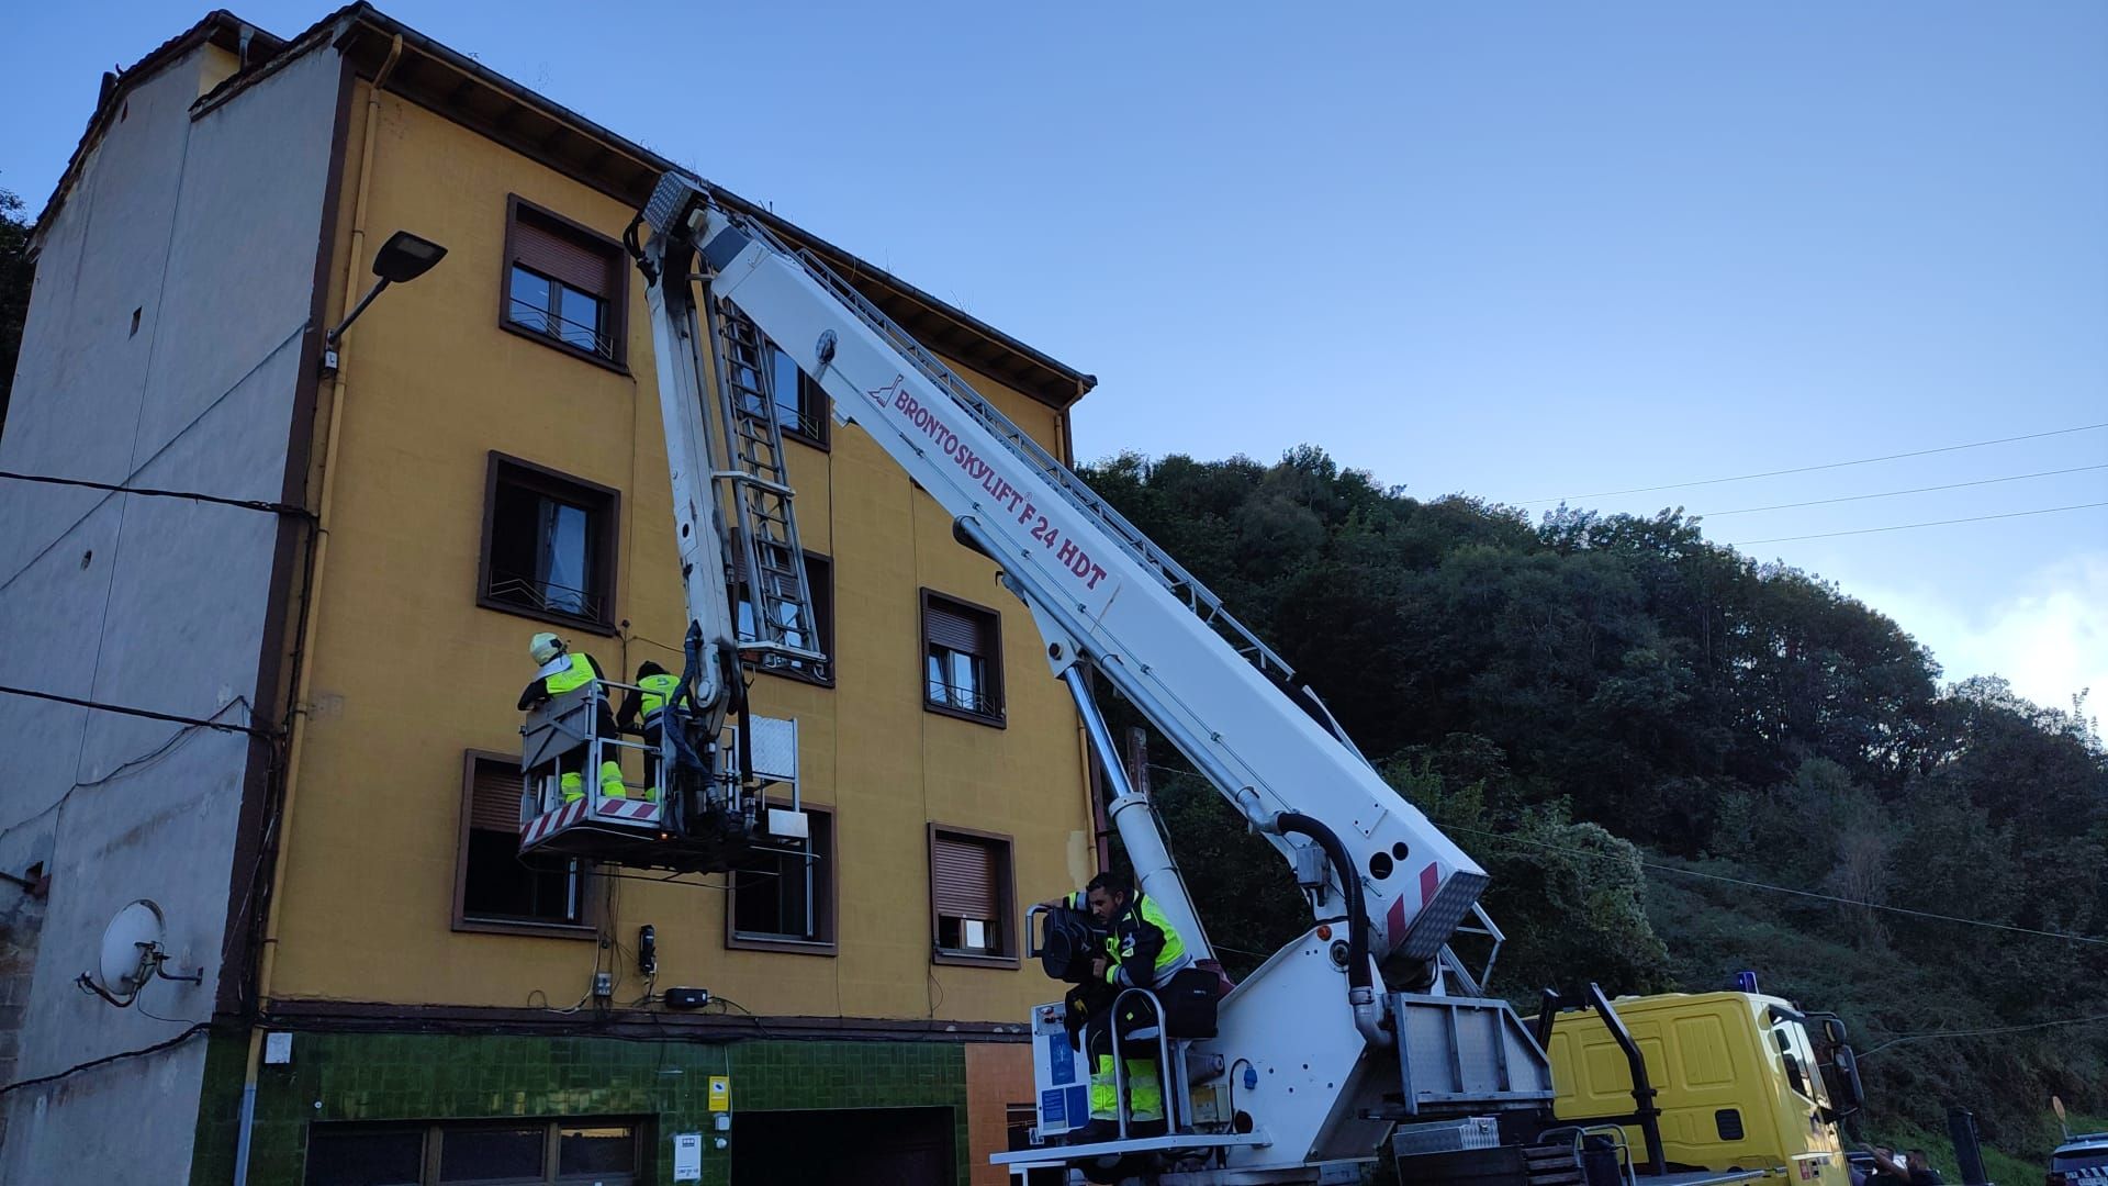
[[[519,755],[468,751],[453,929],[590,939],[592,878],[571,857],[521,857]]]

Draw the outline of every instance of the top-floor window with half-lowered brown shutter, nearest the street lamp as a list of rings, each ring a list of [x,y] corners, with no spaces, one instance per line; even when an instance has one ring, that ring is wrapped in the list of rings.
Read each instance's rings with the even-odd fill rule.
[[[500,325],[620,369],[626,293],[620,243],[512,196]]]

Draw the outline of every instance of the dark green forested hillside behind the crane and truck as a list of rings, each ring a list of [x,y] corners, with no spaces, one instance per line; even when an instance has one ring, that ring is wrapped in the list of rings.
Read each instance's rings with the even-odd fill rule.
[[[1939,1148],[1963,1104],[2032,1161],[1994,1165],[2015,1184],[2053,1144],[2051,1093],[2108,1112],[2108,1017],[2045,1026],[2108,1015],[2108,945],[2055,937],[2108,935],[2108,760],[2083,705],[1944,673],[1847,591],[1680,513],[1533,523],[1311,447],[1084,477],[1488,867],[1495,992],[1535,1009],[1547,983],[1754,969],[1847,1017],[1863,1135]],[[1210,935],[1248,969],[1307,924],[1294,886],[1168,745],[1151,762]],[[2005,1032],[1920,1036],[1954,1030]]]

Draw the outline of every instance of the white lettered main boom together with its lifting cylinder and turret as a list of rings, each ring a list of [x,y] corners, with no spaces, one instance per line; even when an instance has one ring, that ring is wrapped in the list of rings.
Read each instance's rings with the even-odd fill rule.
[[[1086,669],[1132,701],[1290,861],[1318,926],[1237,986],[1221,1005],[1218,1036],[1199,1042],[1237,1074],[1240,1121],[1248,1112],[1261,1127],[1227,1156],[1273,1171],[1366,1154],[1387,1125],[1372,1104],[1395,1087],[1412,1038],[1404,1017],[1387,1017],[1377,969],[1391,956],[1433,964],[1484,888],[1484,869],[1362,760],[1212,593],[820,260],[677,173],[660,179],[643,222],[653,232],[645,253],[653,285],[687,289],[694,260],[713,300],[795,359],[833,399],[835,418],[860,424],[953,515],[955,536],[995,559],[1113,779],[1113,821],[1143,891],[1197,954],[1204,933],[1155,815],[1121,779]],[[679,266],[658,276],[651,260]],[[662,352],[687,346],[660,333]],[[677,409],[666,416],[668,435],[689,431]],[[683,528],[700,532],[700,519],[696,509]],[[691,561],[685,540],[683,561]],[[1336,922],[1347,924],[1345,941],[1330,939]],[[1341,996],[1349,1009],[1324,1007]]]

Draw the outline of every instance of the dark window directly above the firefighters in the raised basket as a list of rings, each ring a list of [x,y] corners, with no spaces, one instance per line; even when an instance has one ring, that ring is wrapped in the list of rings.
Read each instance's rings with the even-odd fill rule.
[[[620,502],[605,485],[493,452],[476,604],[613,633]]]

